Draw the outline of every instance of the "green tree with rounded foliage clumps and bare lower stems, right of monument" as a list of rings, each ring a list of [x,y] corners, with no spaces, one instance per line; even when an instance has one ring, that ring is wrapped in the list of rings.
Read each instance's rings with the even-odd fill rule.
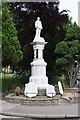
[[[57,72],[69,78],[70,87],[73,87],[78,66],[75,66],[76,55],[80,55],[80,27],[71,21],[67,24],[67,33],[62,42],[56,44],[55,53]]]

